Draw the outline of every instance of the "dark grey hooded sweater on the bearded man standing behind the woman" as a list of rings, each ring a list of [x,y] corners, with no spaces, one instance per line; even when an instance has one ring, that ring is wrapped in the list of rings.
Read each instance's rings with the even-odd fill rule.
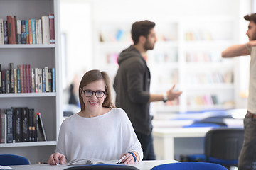
[[[131,45],[117,58],[119,69],[114,78],[116,106],[124,109],[134,130],[149,135],[152,129],[149,115],[150,71],[139,51]]]

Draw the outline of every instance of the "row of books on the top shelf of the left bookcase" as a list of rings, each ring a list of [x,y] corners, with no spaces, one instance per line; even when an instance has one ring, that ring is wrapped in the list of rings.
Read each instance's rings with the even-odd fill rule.
[[[54,14],[40,19],[0,18],[0,45],[55,44]]]

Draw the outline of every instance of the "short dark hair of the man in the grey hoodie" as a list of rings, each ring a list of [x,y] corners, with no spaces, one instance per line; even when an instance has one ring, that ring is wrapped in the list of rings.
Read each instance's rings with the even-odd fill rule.
[[[132,24],[132,40],[134,45],[139,42],[139,36],[144,36],[145,38],[148,37],[149,32],[152,28],[154,28],[156,24],[154,22],[144,20],[144,21],[137,21]]]

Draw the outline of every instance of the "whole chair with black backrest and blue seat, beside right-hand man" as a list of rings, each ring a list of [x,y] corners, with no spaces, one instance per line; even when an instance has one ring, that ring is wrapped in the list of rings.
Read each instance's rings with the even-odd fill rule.
[[[242,128],[210,130],[205,137],[205,153],[190,155],[188,160],[211,162],[228,168],[237,166],[243,138],[244,130]]]

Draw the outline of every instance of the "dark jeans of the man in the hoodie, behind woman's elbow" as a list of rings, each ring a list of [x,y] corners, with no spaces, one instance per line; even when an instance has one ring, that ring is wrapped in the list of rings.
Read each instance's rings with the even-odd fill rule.
[[[154,154],[154,146],[153,146],[153,137],[152,134],[144,135],[139,132],[135,132],[139,142],[142,144],[143,150],[143,159],[142,160],[156,160],[156,156]]]

